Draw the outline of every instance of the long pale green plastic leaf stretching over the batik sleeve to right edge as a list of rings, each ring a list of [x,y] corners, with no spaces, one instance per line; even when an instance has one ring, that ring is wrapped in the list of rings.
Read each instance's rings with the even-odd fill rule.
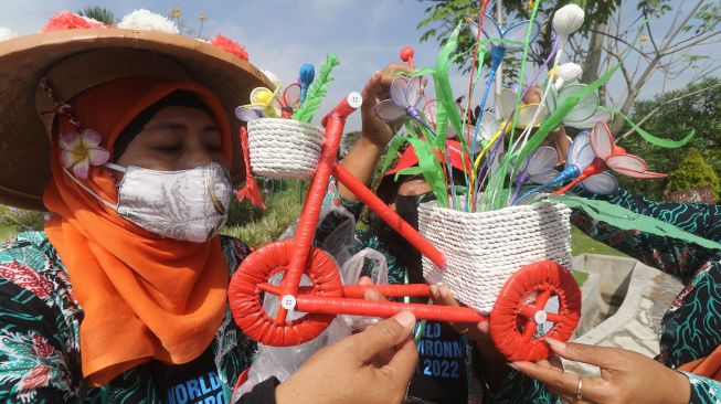
[[[574,195],[551,195],[549,200],[562,202],[569,208],[583,209],[593,219],[606,222],[612,226],[623,230],[638,230],[642,232],[681,240],[698,244],[706,248],[721,249],[721,243],[699,237],[675,225],[658,219],[646,216],[606,201],[589,200]]]

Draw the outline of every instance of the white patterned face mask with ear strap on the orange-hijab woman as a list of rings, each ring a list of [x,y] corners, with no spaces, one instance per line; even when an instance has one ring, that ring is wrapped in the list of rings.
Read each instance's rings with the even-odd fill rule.
[[[124,172],[113,204],[68,176],[120,216],[163,237],[202,243],[227,221],[232,187],[227,171],[211,162],[189,170],[158,171],[106,163]]]

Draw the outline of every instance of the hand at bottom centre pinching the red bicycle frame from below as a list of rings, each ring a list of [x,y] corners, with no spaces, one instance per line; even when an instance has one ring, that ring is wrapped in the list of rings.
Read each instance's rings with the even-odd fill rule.
[[[401,403],[418,358],[414,325],[413,313],[402,311],[322,349],[276,387],[276,402]]]

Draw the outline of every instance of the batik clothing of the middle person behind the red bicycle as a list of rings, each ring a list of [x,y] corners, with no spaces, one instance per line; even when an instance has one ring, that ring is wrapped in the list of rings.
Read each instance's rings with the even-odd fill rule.
[[[361,202],[351,202],[340,196],[336,180],[331,178],[328,187],[328,193],[324,200],[326,210],[330,206],[342,208],[352,213],[356,221],[361,216],[363,204]],[[322,234],[337,228],[339,221],[347,220],[343,215],[327,215],[326,220],[318,226],[316,240],[322,242]],[[325,232],[325,233],[324,233]],[[319,235],[320,234],[320,235]],[[388,246],[371,230],[356,231],[356,237],[352,251],[358,253],[364,248],[373,248],[385,257],[388,265],[389,284],[405,284],[406,268],[400,265],[395,257],[389,252]],[[465,350],[465,361],[467,371],[468,403],[469,404],[506,404],[506,403],[533,403],[533,404],[555,404],[560,403],[560,397],[551,394],[545,385],[524,374],[510,370],[502,385],[497,390],[490,390],[483,379],[477,361],[474,360],[475,344],[467,343]]]

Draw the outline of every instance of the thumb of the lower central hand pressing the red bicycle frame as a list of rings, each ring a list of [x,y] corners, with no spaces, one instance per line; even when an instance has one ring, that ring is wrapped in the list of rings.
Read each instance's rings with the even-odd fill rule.
[[[375,354],[405,341],[414,325],[415,316],[410,311],[401,311],[392,318],[350,337],[350,342],[356,347],[358,358],[367,362]]]

